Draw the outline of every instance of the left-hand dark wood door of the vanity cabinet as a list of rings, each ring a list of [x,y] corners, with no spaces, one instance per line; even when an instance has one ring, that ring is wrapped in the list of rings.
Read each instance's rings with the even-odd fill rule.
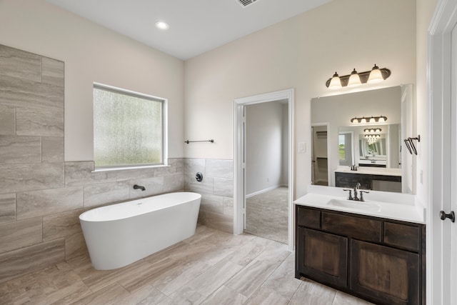
[[[297,234],[297,271],[321,283],[346,288],[348,239],[301,226]]]

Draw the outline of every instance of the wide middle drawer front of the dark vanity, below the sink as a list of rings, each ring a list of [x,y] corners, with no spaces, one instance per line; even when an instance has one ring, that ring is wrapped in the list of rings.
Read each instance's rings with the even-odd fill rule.
[[[322,229],[365,241],[381,241],[381,221],[322,212]]]

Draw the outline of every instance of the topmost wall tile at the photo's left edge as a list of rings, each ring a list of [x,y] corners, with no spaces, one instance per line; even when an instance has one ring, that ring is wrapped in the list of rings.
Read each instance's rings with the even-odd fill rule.
[[[41,56],[0,44],[0,74],[41,81]]]

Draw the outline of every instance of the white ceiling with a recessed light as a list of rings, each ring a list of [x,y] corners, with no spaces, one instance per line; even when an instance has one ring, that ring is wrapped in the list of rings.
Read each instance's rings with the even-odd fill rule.
[[[247,6],[238,0],[46,1],[186,60],[331,0],[255,0]],[[169,29],[156,29],[156,21]]]

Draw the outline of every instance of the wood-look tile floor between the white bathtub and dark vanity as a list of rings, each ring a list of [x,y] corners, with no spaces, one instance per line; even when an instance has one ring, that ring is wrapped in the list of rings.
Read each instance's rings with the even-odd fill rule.
[[[0,304],[369,304],[294,278],[286,244],[198,226],[194,236],[111,271],[89,257],[0,284]]]

